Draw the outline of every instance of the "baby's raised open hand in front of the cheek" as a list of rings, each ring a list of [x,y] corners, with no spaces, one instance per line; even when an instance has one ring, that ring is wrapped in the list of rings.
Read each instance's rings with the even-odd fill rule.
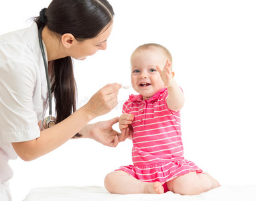
[[[174,82],[174,72],[172,72],[171,66],[172,63],[170,62],[170,60],[166,60],[166,65],[164,66],[163,69],[158,65],[156,66],[157,71],[159,72],[166,87],[172,86],[172,83]]]

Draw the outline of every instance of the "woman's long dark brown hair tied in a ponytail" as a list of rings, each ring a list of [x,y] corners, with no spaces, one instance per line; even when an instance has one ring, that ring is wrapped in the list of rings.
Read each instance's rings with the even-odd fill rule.
[[[107,0],[53,0],[36,17],[38,29],[47,26],[60,37],[72,34],[76,40],[95,38],[113,21],[114,11]],[[72,58],[65,57],[51,62],[51,90],[54,92],[57,123],[76,111],[76,82]],[[80,137],[80,134],[76,134]]]

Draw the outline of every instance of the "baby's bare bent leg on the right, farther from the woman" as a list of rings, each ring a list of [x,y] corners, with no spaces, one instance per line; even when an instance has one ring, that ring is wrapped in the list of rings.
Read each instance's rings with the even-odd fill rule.
[[[170,180],[167,182],[167,186],[170,191],[177,194],[197,195],[216,188],[220,184],[208,174],[189,172],[174,180]]]

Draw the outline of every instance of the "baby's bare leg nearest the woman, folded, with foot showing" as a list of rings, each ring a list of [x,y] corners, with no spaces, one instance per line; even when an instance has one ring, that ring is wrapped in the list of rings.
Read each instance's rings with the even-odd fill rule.
[[[105,188],[113,194],[163,194],[160,182],[141,182],[122,170],[109,173],[104,181]]]

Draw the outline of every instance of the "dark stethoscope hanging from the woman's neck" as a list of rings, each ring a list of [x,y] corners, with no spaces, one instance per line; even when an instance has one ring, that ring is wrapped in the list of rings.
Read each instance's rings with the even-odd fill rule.
[[[40,44],[40,49],[42,52],[43,60],[44,60],[44,69],[46,70],[46,80],[47,80],[47,86],[48,86],[48,100],[46,102],[46,107],[44,109],[44,113],[42,116],[42,123],[41,123],[41,130],[44,127],[44,129],[48,129],[50,127],[53,127],[56,125],[56,118],[52,117],[52,93],[51,93],[51,87],[50,87],[50,78],[48,74],[48,62],[46,61],[46,54],[44,53],[44,48],[43,48],[43,42],[42,42],[42,29],[43,27],[40,27],[39,32],[38,32],[38,38],[39,38],[39,44]],[[49,104],[49,117],[46,117],[46,109]]]

